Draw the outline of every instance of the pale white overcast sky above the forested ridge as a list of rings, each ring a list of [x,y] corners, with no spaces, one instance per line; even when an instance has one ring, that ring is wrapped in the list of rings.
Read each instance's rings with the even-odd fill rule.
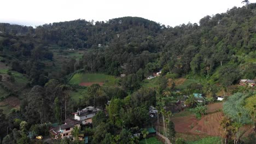
[[[169,26],[242,7],[242,0],[1,0],[0,22],[39,26],[77,19],[106,21],[138,16]],[[255,3],[256,0],[250,0]]]

